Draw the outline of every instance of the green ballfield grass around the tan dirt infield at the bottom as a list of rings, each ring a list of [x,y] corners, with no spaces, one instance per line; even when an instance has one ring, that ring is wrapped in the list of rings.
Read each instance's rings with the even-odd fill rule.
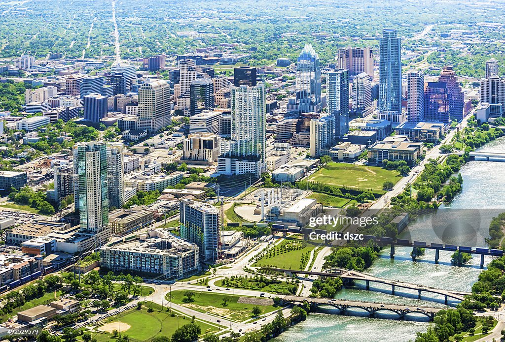
[[[155,309],[155,311],[147,312],[148,307]],[[111,317],[104,321],[103,324],[114,322],[126,323],[130,325],[130,328],[125,331],[121,331],[122,334],[128,335],[130,338],[145,341],[157,335],[170,337],[175,330],[177,330],[177,327],[188,324],[191,321],[189,317],[180,315],[177,316],[178,317],[171,317],[170,313],[165,311],[165,308],[155,303],[146,302],[141,310],[130,310],[126,315],[121,317]],[[218,330],[218,327],[203,322],[196,321],[196,324],[200,326],[202,335]],[[112,337],[112,334],[107,332],[93,332],[91,335],[92,338],[96,338],[98,342],[115,340],[115,338]]]

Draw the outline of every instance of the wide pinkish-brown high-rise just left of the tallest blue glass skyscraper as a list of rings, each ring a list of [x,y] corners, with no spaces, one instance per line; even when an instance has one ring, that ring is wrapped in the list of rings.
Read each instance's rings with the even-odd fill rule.
[[[344,47],[338,49],[338,69],[347,69],[349,77],[366,73],[374,77],[374,52],[370,47]]]

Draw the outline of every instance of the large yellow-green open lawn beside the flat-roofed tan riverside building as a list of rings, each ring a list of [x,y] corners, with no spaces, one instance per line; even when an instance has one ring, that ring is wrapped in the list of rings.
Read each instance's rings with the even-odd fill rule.
[[[372,190],[382,193],[382,184],[386,181],[396,184],[401,176],[378,166],[353,165],[346,163],[328,163],[310,176],[309,180],[338,187],[357,190]]]

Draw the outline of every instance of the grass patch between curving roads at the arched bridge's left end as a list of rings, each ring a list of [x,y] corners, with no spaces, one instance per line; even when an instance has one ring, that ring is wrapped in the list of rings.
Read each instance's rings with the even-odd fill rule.
[[[184,292],[182,290],[172,291],[172,302],[183,305],[200,312],[211,312],[215,315],[226,317],[237,322],[251,318],[252,308],[256,305],[238,303],[240,296],[223,295],[209,292],[196,292],[192,303],[184,303]],[[167,295],[167,300],[170,299],[170,294]],[[223,306],[223,298],[229,301],[226,306]],[[273,306],[258,305],[262,313],[272,312],[277,308]]]

